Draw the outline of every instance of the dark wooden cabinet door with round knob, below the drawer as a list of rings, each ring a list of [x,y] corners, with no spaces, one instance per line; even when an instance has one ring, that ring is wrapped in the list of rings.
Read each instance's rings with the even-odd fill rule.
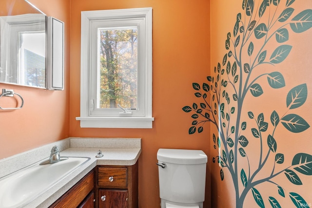
[[[128,190],[99,189],[98,208],[128,208]]]

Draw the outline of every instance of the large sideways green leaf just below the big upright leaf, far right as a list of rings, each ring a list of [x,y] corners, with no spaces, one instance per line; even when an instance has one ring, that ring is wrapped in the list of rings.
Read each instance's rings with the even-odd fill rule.
[[[296,114],[285,115],[281,122],[288,131],[293,133],[303,132],[310,127],[307,121]]]

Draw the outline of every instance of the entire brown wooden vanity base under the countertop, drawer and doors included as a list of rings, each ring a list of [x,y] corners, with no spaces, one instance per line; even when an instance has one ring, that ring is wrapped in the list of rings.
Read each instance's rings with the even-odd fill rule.
[[[137,208],[138,163],[97,166],[49,208]]]

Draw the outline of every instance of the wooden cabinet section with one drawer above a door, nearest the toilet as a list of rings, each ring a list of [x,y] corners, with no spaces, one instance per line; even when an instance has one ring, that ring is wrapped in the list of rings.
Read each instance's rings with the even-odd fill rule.
[[[138,207],[138,163],[133,166],[98,166],[96,169],[96,207]]]

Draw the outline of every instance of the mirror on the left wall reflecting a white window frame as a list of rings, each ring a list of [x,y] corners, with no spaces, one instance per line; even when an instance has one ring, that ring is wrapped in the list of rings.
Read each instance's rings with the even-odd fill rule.
[[[46,88],[45,24],[27,0],[0,0],[0,82]]]

